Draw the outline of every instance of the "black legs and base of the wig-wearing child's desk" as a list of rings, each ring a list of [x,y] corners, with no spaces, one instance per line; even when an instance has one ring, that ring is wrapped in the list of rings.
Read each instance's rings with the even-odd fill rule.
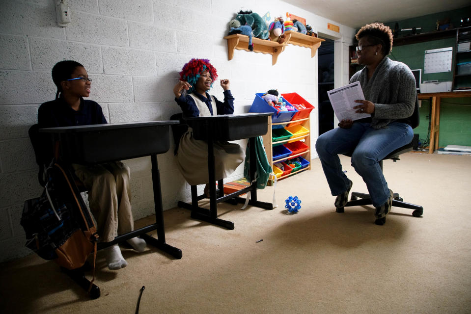
[[[271,113],[270,113],[271,114]],[[193,122],[196,121],[192,118]],[[268,128],[268,121],[267,121]],[[268,129],[267,129],[268,130]],[[260,134],[263,135],[263,134]],[[197,138],[197,135],[195,135]],[[200,135],[201,136],[201,135]],[[258,136],[258,135],[257,135]],[[205,209],[198,207],[198,200],[203,199],[205,196],[197,196],[196,186],[192,185],[192,204],[188,204],[182,201],[178,202],[178,207],[184,209],[190,209],[191,217],[194,219],[209,222],[214,225],[224,227],[229,230],[234,229],[234,223],[232,221],[223,220],[218,218],[218,205],[217,203],[228,202],[230,200],[236,201],[236,203],[245,203],[246,199],[239,197],[239,195],[250,192],[249,205],[263,209],[273,209],[273,204],[261,202],[257,200],[257,183],[254,181],[256,172],[256,150],[255,150],[255,137],[249,137],[249,177],[250,185],[239,191],[223,195],[223,184],[222,180],[219,180],[219,189],[216,190],[216,179],[215,179],[215,158],[214,158],[214,141],[221,140],[215,136],[215,132],[207,132],[204,134],[205,140],[208,143],[208,175],[209,175],[209,207]],[[233,139],[229,139],[233,140]],[[251,166],[255,165],[255,166]]]

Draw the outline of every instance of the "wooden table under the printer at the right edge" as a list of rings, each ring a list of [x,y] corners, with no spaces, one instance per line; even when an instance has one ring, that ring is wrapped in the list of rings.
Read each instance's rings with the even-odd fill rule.
[[[438,149],[438,137],[440,134],[440,102],[442,98],[471,97],[471,91],[466,92],[442,92],[417,94],[419,100],[432,99],[432,114],[430,116],[430,145],[429,154]]]

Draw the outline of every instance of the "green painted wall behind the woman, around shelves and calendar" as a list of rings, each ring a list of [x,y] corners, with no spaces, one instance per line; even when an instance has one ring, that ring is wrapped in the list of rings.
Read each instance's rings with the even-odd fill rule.
[[[400,28],[422,27],[422,31],[428,32],[435,30],[437,20],[450,17],[451,23],[459,27],[460,19],[471,17],[471,6],[459,10],[447,11],[438,14],[430,14],[413,19],[397,21]],[[385,23],[391,29],[394,28],[392,21]],[[424,43],[410,44],[392,48],[389,56],[392,60],[398,60],[407,64],[411,69],[422,69],[422,81],[437,79],[439,81],[451,81],[453,73],[423,73],[425,50],[453,47],[456,52],[456,38],[447,38],[443,40],[434,40]],[[453,53],[452,71],[455,69],[455,53]],[[462,62],[462,61],[460,61]],[[428,137],[430,122],[430,104],[428,101],[422,101],[420,108],[420,125],[414,130],[419,134],[423,143]],[[439,146],[465,145],[471,146],[471,98],[448,98],[442,99],[440,106],[440,136]]]

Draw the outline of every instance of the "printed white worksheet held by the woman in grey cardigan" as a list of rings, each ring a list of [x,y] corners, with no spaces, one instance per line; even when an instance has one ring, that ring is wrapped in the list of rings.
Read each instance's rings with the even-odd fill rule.
[[[332,89],[327,94],[338,121],[344,119],[355,121],[371,116],[369,113],[356,113],[357,109],[353,108],[356,105],[361,105],[355,103],[356,100],[365,99],[360,82],[353,82],[340,88]]]

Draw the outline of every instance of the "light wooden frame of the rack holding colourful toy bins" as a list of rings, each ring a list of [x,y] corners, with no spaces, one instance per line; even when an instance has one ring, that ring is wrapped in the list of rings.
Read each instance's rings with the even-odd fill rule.
[[[282,158],[279,158],[279,159],[276,159],[276,160],[273,160],[273,145],[272,145],[272,142],[273,142],[273,139],[272,139],[272,131],[273,131],[273,128],[279,128],[279,126],[282,126],[283,128],[286,127],[288,124],[290,123],[293,123],[293,122],[299,122],[303,127],[305,127],[307,130],[310,130],[310,118],[307,117],[307,118],[303,118],[303,119],[299,119],[299,120],[291,120],[291,121],[287,121],[287,122],[278,122],[278,123],[272,123],[272,117],[270,116],[268,118],[268,132],[267,134],[263,135],[263,146],[265,147],[265,152],[267,153],[267,157],[268,157],[268,161],[270,162],[270,166],[273,168],[273,164],[274,163],[277,163],[277,162],[281,162],[281,161],[286,161],[288,159],[291,159],[291,158],[295,158],[295,157],[303,157],[304,159],[308,160],[309,161],[309,164],[305,167],[305,168],[302,168],[302,169],[299,169],[298,171],[295,171],[295,172],[291,172],[287,175],[284,175],[284,176],[281,176],[279,177],[277,180],[282,180],[282,179],[285,179],[285,178],[288,178],[288,177],[291,177],[291,176],[295,176],[297,175],[298,173],[301,173],[303,171],[306,171],[306,170],[310,170],[311,169],[311,164],[310,164],[310,161],[311,161],[311,139],[310,139],[310,131],[307,133],[307,134],[304,134],[304,135],[301,135],[301,136],[298,136],[298,137],[292,137],[292,138],[288,138],[288,139],[285,139],[283,141],[277,141],[277,144],[278,143],[281,143],[281,144],[286,144],[288,143],[289,141],[292,141],[292,140],[302,140],[304,139],[305,140],[305,145],[308,146],[308,149],[305,151],[305,152],[302,152],[300,154],[296,154],[296,155],[292,155],[292,156],[288,156],[288,157],[282,157]],[[268,181],[268,184],[271,185],[272,184],[272,181],[269,180]]]

